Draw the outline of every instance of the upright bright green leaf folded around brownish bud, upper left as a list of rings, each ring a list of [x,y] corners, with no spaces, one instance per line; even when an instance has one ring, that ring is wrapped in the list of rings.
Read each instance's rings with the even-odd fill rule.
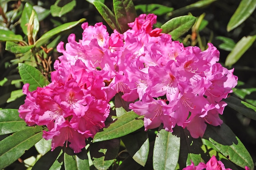
[[[32,11],[34,11],[34,16],[32,16]],[[38,21],[36,11],[33,9],[32,5],[27,2],[23,8],[21,18],[20,18],[20,27],[25,35],[28,35],[27,27],[28,27],[29,19],[31,16],[32,16],[31,19],[33,20],[33,27],[32,27],[33,38],[35,40],[36,35],[39,31],[39,21]]]

